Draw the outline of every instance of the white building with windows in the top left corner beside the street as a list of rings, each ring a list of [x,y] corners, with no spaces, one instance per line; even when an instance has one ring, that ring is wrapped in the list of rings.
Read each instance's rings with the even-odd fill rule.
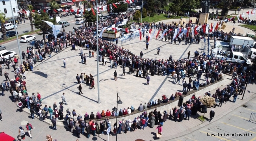
[[[10,3],[11,2],[11,3]],[[12,5],[12,9],[11,9]],[[19,17],[17,0],[0,0],[0,11],[6,14],[6,18]],[[13,15],[12,15],[13,11]]]

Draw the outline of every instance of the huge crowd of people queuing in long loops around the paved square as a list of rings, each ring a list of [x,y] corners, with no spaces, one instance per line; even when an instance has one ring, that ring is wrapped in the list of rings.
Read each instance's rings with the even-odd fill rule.
[[[115,23],[120,22],[122,20],[122,17],[123,16],[117,16],[116,18],[112,18],[111,24],[113,24],[113,20],[115,20]],[[102,25],[100,28],[102,28],[105,25],[109,25],[110,22],[107,21],[100,24]],[[155,27],[154,23],[150,24],[147,22],[144,22],[141,26],[151,28]],[[191,24],[187,26],[191,26]],[[164,23],[159,23],[158,25],[156,25],[156,28],[160,29],[173,29],[175,27],[178,27],[178,24],[173,23],[173,25],[167,25]],[[31,112],[32,119],[34,119],[34,114],[38,114],[43,120],[45,120],[46,118],[51,119],[53,124],[53,130],[57,130],[56,119],[65,119],[65,121],[67,121],[68,123],[70,131],[73,132],[73,129],[75,129],[78,137],[80,137],[80,133],[85,134],[87,138],[89,138],[90,133],[92,133],[93,136],[96,136],[96,133],[103,134],[104,130],[111,127],[109,117],[121,117],[123,115],[132,114],[134,110],[137,110],[136,108],[134,108],[134,106],[122,108],[120,110],[106,110],[106,112],[102,110],[102,112],[97,112],[96,115],[93,114],[93,112],[91,112],[90,115],[88,113],[85,113],[83,118],[82,115],[76,114],[75,109],[72,110],[72,114],[69,111],[69,108],[67,108],[66,113],[63,112],[63,105],[67,105],[65,101],[65,93],[63,93],[63,95],[61,96],[62,102],[59,107],[56,103],[53,104],[53,107],[48,107],[47,105],[44,105],[42,107],[41,103],[43,99],[41,98],[41,94],[37,92],[36,96],[34,93],[29,96],[27,92],[25,72],[29,69],[33,71],[33,65],[38,61],[40,62],[44,60],[46,58],[46,54],[50,55],[52,52],[61,51],[62,49],[68,47],[68,44],[72,47],[75,45],[85,47],[85,49],[87,49],[89,52],[93,52],[92,50],[96,51],[96,38],[95,36],[93,36],[94,34],[92,31],[96,31],[95,24],[88,23],[83,25],[80,29],[74,28],[73,31],[65,32],[63,30],[61,32],[60,38],[46,40],[45,43],[43,42],[44,47],[42,47],[42,49],[38,49],[37,51],[35,51],[33,47],[27,47],[27,55],[26,53],[22,52],[22,58],[24,60],[25,58],[27,59],[20,65],[19,68],[16,68],[14,64],[13,69],[15,72],[15,80],[11,79],[9,83],[7,81],[8,74],[5,73],[6,81],[5,83],[2,83],[0,85],[2,94],[4,94],[3,90],[9,90],[11,92],[13,101],[15,101],[17,103],[17,106],[20,108],[20,112],[23,111],[23,108],[27,107]],[[193,43],[193,36],[191,36],[191,33],[189,33],[189,40],[186,39],[185,35],[178,40],[180,40],[179,42],[181,42],[182,40],[186,39],[185,42]],[[165,38],[167,37],[173,38],[173,32],[167,33]],[[199,40],[202,37],[196,36],[196,38],[198,38]],[[248,81],[250,83],[252,80],[254,80],[255,76],[255,72],[248,71],[246,66],[229,63],[223,59],[212,58],[211,56],[206,54],[200,55],[197,51],[195,51],[194,58],[190,57],[189,52],[187,59],[173,60],[173,57],[170,55],[169,58],[161,60],[158,58],[143,58],[143,53],[140,55],[136,55],[130,52],[128,49],[119,47],[118,45],[115,45],[106,40],[99,39],[98,46],[99,53],[97,55],[99,56],[99,61],[102,61],[102,65],[106,65],[106,58],[109,58],[111,67],[117,69],[117,65],[121,65],[124,75],[126,72],[125,68],[128,67],[128,73],[136,72],[136,77],[141,77],[142,75],[142,77],[147,80],[147,84],[149,84],[150,76],[154,76],[155,74],[157,74],[158,76],[165,76],[167,72],[168,74],[171,73],[171,76],[173,77],[173,82],[175,84],[180,84],[180,79],[183,79],[183,93],[176,92],[176,94],[172,94],[170,98],[167,98],[166,95],[163,95],[161,99],[152,100],[150,103],[145,103],[145,105],[140,104],[138,110],[141,111],[142,114],[138,117],[135,117],[135,119],[123,119],[122,121],[115,123],[113,127],[114,135],[121,134],[122,131],[127,133],[127,131],[135,131],[138,128],[144,129],[147,126],[154,128],[154,125],[158,126],[157,129],[160,133],[162,132],[163,123],[167,121],[168,118],[173,119],[174,121],[182,122],[183,119],[187,119],[187,117],[189,120],[189,116],[195,115],[197,111],[201,110],[205,112],[205,106],[200,101],[200,97],[196,98],[194,95],[191,98],[187,99],[186,102],[183,102],[184,96],[191,89],[198,90],[198,87],[200,86],[204,87],[206,85],[209,85],[210,83],[221,80],[221,71],[223,71],[223,73],[228,72],[232,74],[232,83],[230,87],[227,87],[223,90],[217,90],[213,95],[211,95],[210,92],[206,92],[206,96],[215,98],[216,104],[214,105],[214,107],[216,107],[216,105],[219,105],[221,107],[222,103],[228,101],[231,96],[234,97],[233,102],[236,102],[237,95],[242,94],[245,90],[245,82]],[[159,53],[160,50],[158,54]],[[84,57],[82,54],[83,52],[81,52],[81,57]],[[19,58],[19,56],[17,58]],[[12,60],[8,61],[10,62]],[[86,61],[84,62],[86,64]],[[0,66],[0,68],[3,69],[3,66],[4,65]],[[196,76],[195,80],[193,80],[194,76]],[[202,78],[202,76],[204,78]],[[187,79],[189,80],[187,81]],[[91,74],[90,76],[85,73],[82,73],[80,76],[77,74],[76,80],[78,81],[78,83],[82,83],[82,80],[84,80],[84,83],[90,85],[91,88],[94,88],[94,78]],[[202,82],[200,83],[200,81]],[[82,93],[82,87],[79,90],[80,93]],[[163,111],[163,113],[161,113],[161,111],[158,111],[157,108],[155,108],[154,111],[147,112],[148,109],[153,109],[157,105],[160,105],[161,103],[167,103],[168,101],[172,101],[175,98],[179,98],[179,108],[172,108],[169,114],[167,113],[167,111]],[[211,114],[212,113],[213,112],[211,112]],[[100,120],[102,119],[102,117],[108,118],[106,118],[104,121],[100,121],[99,123],[95,121],[95,119]],[[32,128],[32,125],[28,123],[27,130],[30,130]],[[23,132],[24,129],[22,127],[19,128],[19,134],[21,137],[24,137]],[[51,138],[50,135],[48,136],[48,138]]]

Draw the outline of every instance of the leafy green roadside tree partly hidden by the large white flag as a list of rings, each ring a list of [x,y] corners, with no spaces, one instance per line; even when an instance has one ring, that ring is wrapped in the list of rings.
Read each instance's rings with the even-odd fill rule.
[[[40,29],[43,32],[43,39],[45,40],[45,32],[49,28],[49,25],[46,24],[46,22],[43,22],[43,20],[56,24],[56,18],[50,19],[47,13],[42,12],[41,14],[34,14],[33,19],[35,28]]]

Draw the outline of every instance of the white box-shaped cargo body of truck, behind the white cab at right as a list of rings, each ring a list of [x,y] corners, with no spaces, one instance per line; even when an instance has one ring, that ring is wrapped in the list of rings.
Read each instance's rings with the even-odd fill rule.
[[[244,45],[252,45],[254,40],[250,37],[243,36],[231,36],[230,37],[230,46],[232,45],[240,45],[240,47]]]

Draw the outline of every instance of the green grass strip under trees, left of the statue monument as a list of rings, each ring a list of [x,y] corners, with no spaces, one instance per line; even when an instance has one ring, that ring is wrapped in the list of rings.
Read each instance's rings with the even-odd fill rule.
[[[146,18],[142,18],[142,22],[145,21],[145,22],[159,22],[161,20],[168,20],[168,19],[180,19],[180,16],[169,16],[169,18],[167,18],[168,15],[167,14],[160,14],[160,15],[157,15],[155,14],[153,17],[149,17],[147,16]],[[184,17],[182,16],[182,18],[187,18],[187,17]],[[141,20],[132,20],[132,22],[141,22]]]

